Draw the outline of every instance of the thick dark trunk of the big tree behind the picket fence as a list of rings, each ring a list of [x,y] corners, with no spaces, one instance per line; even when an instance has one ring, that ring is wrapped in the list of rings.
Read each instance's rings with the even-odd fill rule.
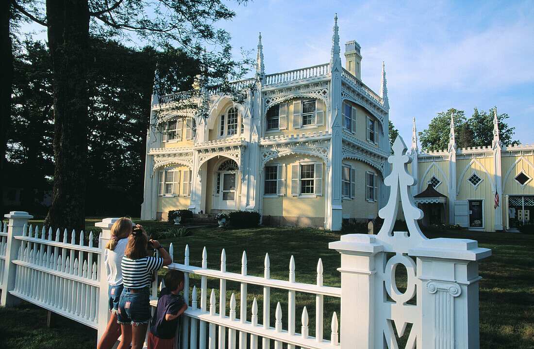
[[[45,225],[81,230],[85,225],[89,47],[88,0],[47,0],[53,67],[54,185]]]

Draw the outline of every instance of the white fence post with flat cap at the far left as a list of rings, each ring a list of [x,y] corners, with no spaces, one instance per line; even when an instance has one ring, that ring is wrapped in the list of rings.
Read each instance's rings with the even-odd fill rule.
[[[20,298],[9,293],[15,286],[17,271],[17,266],[11,262],[18,258],[21,245],[21,241],[14,237],[22,235],[24,225],[33,216],[27,212],[11,211],[4,217],[9,218],[9,223],[7,224],[7,246],[5,249],[4,280],[2,282],[2,300],[0,304],[5,307],[11,307],[20,304]]]

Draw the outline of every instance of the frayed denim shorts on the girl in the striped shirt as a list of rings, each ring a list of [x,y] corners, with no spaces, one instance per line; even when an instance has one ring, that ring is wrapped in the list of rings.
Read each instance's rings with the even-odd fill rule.
[[[150,309],[150,289],[148,287],[142,290],[130,292],[128,288],[122,291],[119,301],[119,310],[117,311],[117,322],[121,324],[134,325],[148,323],[152,318]]]

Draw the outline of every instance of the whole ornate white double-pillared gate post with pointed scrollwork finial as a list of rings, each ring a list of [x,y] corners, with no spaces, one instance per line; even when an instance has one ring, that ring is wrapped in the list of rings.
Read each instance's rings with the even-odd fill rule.
[[[397,137],[387,205],[379,211],[384,223],[376,236],[350,234],[330,248],[341,253],[341,349],[479,347],[478,260],[491,255],[474,240],[427,239],[417,223],[407,172],[412,160]],[[407,231],[394,231],[402,205]],[[396,271],[405,268],[405,291]]]

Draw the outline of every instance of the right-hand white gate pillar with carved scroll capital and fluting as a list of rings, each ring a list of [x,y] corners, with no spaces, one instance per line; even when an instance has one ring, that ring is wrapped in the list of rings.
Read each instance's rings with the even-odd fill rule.
[[[478,349],[478,261],[491,250],[475,240],[439,238],[409,255],[417,257],[422,281],[422,347]]]

